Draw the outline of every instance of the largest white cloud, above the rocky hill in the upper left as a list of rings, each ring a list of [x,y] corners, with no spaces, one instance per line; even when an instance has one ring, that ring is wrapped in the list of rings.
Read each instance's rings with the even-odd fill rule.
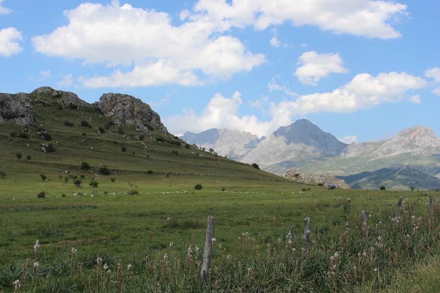
[[[265,62],[263,54],[249,52],[239,39],[222,35],[218,26],[203,19],[173,26],[167,13],[117,1],[83,3],[65,14],[67,25],[32,38],[36,51],[108,66],[134,63],[132,71],[82,77],[79,82],[86,87],[198,85],[196,72],[207,79],[226,79]],[[185,19],[188,13],[180,16]]]

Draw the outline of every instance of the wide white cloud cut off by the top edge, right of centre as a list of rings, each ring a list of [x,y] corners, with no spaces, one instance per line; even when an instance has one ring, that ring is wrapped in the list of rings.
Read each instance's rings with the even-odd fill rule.
[[[207,18],[224,29],[254,25],[263,30],[269,25],[291,21],[294,26],[317,25],[322,30],[368,38],[400,37],[390,22],[406,15],[406,5],[373,0],[199,0],[193,19]]]

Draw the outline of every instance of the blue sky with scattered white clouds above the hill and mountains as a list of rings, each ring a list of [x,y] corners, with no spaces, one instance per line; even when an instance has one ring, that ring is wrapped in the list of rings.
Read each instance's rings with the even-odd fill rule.
[[[175,135],[301,118],[346,143],[440,135],[439,15],[438,0],[0,0],[0,92],[129,94]]]

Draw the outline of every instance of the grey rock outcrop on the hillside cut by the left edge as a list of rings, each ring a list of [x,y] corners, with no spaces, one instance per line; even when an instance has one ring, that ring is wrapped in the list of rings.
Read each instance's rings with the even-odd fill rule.
[[[0,124],[12,121],[19,125],[30,125],[34,121],[34,108],[25,93],[0,93]]]

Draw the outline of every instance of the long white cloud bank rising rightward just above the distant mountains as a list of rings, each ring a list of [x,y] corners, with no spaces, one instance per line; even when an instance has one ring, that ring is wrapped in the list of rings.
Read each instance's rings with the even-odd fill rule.
[[[218,93],[200,114],[192,109],[184,110],[181,115],[167,118],[165,124],[175,134],[229,128],[267,136],[279,126],[291,124],[298,116],[313,112],[350,113],[385,102],[396,103],[405,97],[406,92],[424,86],[426,81],[422,78],[405,72],[380,73],[376,77],[362,73],[332,92],[303,95],[278,104],[269,102],[267,113],[271,119],[266,122],[260,121],[254,115],[240,116],[242,99],[239,92],[229,99]],[[413,96],[413,99],[416,98]],[[353,136],[347,136],[347,139],[352,140]]]

